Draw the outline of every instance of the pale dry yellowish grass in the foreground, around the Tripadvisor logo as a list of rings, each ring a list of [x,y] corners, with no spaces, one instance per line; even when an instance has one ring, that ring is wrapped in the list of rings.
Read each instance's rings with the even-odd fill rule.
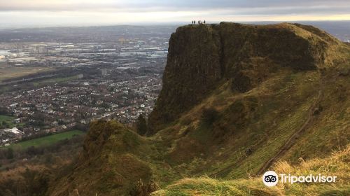
[[[198,179],[182,179],[151,195],[347,195],[350,193],[349,157],[350,146],[325,159],[303,161],[297,167],[292,167],[288,162],[278,162],[273,168],[277,174],[337,176],[339,180],[336,184],[279,183],[274,188],[267,188],[260,177],[222,181],[204,176]]]

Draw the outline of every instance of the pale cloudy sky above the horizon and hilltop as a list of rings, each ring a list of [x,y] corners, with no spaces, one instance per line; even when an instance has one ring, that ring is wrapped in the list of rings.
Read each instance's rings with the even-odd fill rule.
[[[350,0],[0,0],[0,27],[350,20]]]

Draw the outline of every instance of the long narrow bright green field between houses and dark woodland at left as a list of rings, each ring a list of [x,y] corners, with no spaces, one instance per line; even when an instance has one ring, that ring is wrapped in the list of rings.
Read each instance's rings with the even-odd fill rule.
[[[31,139],[28,141],[21,141],[16,144],[12,144],[10,146],[4,147],[4,148],[14,148],[14,149],[25,149],[30,146],[48,146],[50,144],[55,144],[57,141],[62,141],[64,139],[71,139],[75,135],[82,135],[85,134],[84,132],[80,130],[71,130],[69,132],[63,132],[59,134],[53,134],[46,137],[40,137],[37,139]]]

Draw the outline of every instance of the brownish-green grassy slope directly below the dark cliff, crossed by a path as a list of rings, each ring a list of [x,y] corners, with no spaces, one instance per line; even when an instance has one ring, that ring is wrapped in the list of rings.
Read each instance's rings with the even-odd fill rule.
[[[318,97],[320,80],[327,77],[321,78],[318,71],[281,71],[244,94],[232,92],[224,84],[155,138],[169,137],[168,161],[179,173],[200,176],[204,172],[227,179],[255,175],[300,130]],[[314,120],[280,158],[297,162],[299,158],[324,157],[349,144],[346,106],[350,100],[344,97],[350,95],[350,87],[343,85],[342,91],[335,93],[334,86],[340,83],[350,83],[350,78],[337,76],[322,84],[325,90],[318,105],[322,111],[313,115]],[[343,97],[341,102],[339,97]],[[210,127],[200,121],[201,111],[207,107],[218,111],[218,119]],[[250,154],[246,154],[248,149]],[[180,162],[181,167],[176,165]]]

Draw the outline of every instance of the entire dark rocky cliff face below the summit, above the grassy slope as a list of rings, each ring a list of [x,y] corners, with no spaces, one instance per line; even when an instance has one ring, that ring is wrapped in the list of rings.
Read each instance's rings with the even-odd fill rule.
[[[179,27],[169,41],[148,134],[179,118],[225,80],[232,80],[232,90],[247,92],[281,67],[304,71],[330,66],[327,51],[337,44],[324,31],[298,24]]]

